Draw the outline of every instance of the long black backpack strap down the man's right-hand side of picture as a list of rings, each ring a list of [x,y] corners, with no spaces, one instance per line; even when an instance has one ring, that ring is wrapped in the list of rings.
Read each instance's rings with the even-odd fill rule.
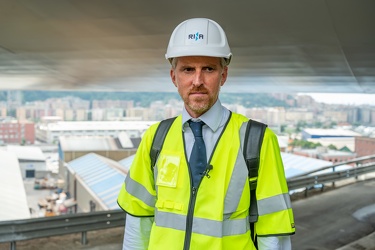
[[[248,175],[249,175],[249,186],[250,186],[250,208],[249,208],[249,222],[251,229],[251,239],[253,240],[255,247],[257,247],[256,239],[254,235],[254,223],[258,221],[258,204],[256,199],[256,187],[258,181],[258,170],[260,162],[260,150],[262,148],[262,142],[264,132],[266,131],[267,125],[261,122],[250,120],[246,126],[245,138],[244,138],[244,149],[243,154],[246,161]]]

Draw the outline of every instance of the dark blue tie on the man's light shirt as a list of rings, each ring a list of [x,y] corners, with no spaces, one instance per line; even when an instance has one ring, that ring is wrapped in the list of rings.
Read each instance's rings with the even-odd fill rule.
[[[206,146],[202,137],[202,126],[204,122],[189,121],[191,130],[193,131],[195,142],[191,151],[189,166],[193,178],[193,186],[197,187],[201,179],[202,173],[206,170],[207,156]]]

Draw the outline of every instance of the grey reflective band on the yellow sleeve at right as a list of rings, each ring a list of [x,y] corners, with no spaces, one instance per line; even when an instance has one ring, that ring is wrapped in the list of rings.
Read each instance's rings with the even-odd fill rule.
[[[292,208],[289,194],[279,194],[266,199],[258,199],[259,215],[272,214]]]

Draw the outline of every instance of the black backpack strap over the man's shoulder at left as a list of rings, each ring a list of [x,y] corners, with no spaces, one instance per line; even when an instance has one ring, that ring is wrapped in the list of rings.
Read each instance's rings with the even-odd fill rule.
[[[161,148],[163,147],[163,143],[165,140],[165,137],[169,131],[169,128],[171,127],[173,121],[176,119],[176,117],[172,117],[166,120],[162,120],[156,129],[154,139],[152,141],[151,145],[151,151],[150,151],[150,158],[151,158],[151,168],[154,169],[154,166],[156,164],[156,160],[158,159],[158,156],[160,154]]]

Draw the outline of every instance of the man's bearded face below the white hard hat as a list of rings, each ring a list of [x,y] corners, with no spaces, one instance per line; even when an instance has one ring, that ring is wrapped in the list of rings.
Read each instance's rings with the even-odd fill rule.
[[[170,74],[187,112],[196,118],[215,104],[228,67],[223,68],[218,57],[185,56],[177,59]]]

